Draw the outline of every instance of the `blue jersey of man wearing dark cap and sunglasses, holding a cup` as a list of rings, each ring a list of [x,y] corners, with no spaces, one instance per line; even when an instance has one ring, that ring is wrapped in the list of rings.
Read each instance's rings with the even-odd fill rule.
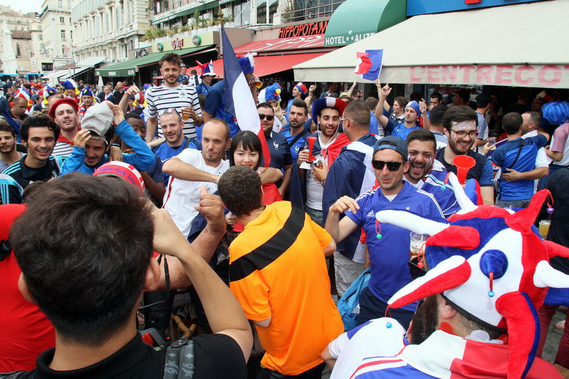
[[[387,303],[390,297],[410,283],[411,274],[407,262],[410,259],[410,231],[388,223],[380,223],[376,229],[376,213],[380,210],[408,210],[422,217],[433,220],[443,218],[442,211],[429,193],[418,190],[407,181],[393,201],[383,196],[381,188],[367,191],[356,199],[360,209],[344,213],[366,232],[369,258],[371,260],[371,278],[369,289],[378,299]],[[380,232],[381,227],[381,232]],[[377,238],[381,233],[382,237]],[[409,304],[403,309],[415,311],[416,304]]]

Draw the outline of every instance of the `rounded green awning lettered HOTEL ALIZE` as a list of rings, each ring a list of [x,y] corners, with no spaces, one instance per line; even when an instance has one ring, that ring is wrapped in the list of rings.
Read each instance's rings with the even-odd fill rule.
[[[324,46],[349,45],[405,21],[406,3],[401,0],[344,1],[328,21]]]

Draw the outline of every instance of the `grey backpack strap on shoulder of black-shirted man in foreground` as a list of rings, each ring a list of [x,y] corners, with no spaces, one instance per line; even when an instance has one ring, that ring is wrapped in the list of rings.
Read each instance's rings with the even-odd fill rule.
[[[195,368],[193,341],[182,336],[166,349],[164,379],[191,379]]]

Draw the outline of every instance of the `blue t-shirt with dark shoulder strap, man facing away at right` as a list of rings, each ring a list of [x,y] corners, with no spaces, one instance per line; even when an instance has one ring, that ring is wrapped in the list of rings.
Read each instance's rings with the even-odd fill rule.
[[[547,145],[547,138],[540,134],[536,137],[523,139],[523,141],[524,145],[521,148],[521,151],[519,151],[520,144],[522,142],[521,137],[499,146],[496,148],[496,151],[494,151],[494,154],[492,154],[491,160],[494,164],[500,166],[502,171],[506,173],[506,169],[509,169],[510,166],[514,164],[519,151],[519,158],[511,169],[518,172],[533,170],[536,167],[538,150]],[[533,196],[533,180],[520,179],[517,181],[505,181],[500,178],[499,183],[500,193],[498,198],[500,200],[526,200]]]

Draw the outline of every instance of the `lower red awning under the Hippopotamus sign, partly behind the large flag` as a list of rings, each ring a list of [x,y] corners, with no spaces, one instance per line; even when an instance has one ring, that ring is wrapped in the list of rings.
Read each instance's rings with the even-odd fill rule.
[[[288,55],[265,55],[256,56],[255,59],[255,75],[259,78],[264,76],[280,73],[281,71],[290,70],[292,66],[298,65],[306,60],[317,58],[326,53],[302,53]],[[198,70],[198,66],[190,68],[190,70]],[[223,59],[213,61],[213,71],[218,74],[216,78],[223,78]],[[199,72],[199,70],[198,70]]]

